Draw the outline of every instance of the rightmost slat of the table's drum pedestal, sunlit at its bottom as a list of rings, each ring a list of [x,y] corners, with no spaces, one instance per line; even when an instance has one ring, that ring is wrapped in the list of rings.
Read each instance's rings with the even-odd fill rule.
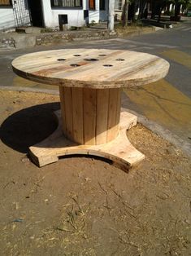
[[[107,122],[107,142],[115,139],[119,132],[120,89],[109,90],[109,108]]]

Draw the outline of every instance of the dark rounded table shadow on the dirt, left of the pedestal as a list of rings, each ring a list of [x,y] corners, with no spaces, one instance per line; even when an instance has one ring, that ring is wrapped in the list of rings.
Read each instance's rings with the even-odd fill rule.
[[[19,152],[28,152],[28,147],[46,139],[58,126],[54,111],[59,103],[40,104],[24,108],[3,121],[0,139],[8,147]]]

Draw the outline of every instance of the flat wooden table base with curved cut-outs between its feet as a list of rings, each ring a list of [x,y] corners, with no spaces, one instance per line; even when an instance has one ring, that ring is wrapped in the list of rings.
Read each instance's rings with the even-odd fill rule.
[[[59,111],[57,116],[59,117],[57,130],[49,138],[29,148],[31,158],[39,167],[58,161],[62,156],[85,154],[110,159],[120,169],[128,171],[131,166],[137,165],[145,158],[132,146],[126,135],[126,130],[137,124],[137,117],[131,113],[121,113],[122,126],[119,125],[119,136],[116,139],[110,143],[92,146],[79,145],[66,139],[62,134]]]

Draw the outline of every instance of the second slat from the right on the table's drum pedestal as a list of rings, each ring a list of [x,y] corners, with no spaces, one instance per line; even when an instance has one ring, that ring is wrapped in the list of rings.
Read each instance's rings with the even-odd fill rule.
[[[97,90],[96,144],[106,143],[109,90]]]

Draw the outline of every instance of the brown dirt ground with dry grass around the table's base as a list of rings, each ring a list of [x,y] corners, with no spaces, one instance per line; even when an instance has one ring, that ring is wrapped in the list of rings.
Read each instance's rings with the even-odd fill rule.
[[[59,96],[0,90],[1,255],[191,255],[191,161],[141,124],[128,173],[94,157],[38,168],[28,146],[55,129]]]

